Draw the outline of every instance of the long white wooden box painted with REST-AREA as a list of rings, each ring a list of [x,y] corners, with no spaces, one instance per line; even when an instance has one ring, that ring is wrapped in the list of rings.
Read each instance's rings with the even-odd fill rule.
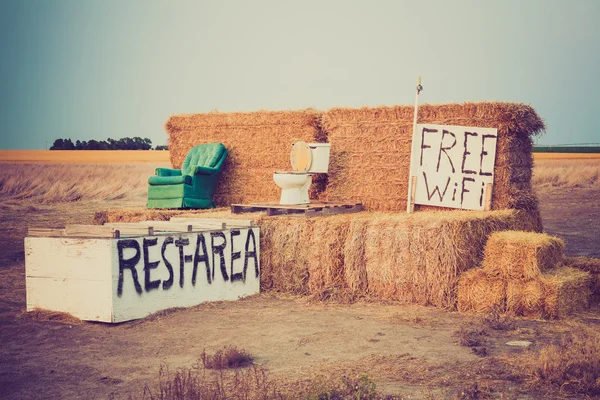
[[[145,236],[80,235],[25,238],[28,311],[42,308],[83,320],[123,322],[172,307],[236,300],[260,290],[256,226]]]

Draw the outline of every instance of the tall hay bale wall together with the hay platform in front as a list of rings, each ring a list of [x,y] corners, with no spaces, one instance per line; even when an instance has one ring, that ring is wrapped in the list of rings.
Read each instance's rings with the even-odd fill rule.
[[[344,292],[352,298],[456,309],[459,277],[480,265],[488,235],[542,230],[531,188],[531,137],[544,123],[524,104],[423,105],[421,123],[498,129],[493,211],[419,206],[431,212],[406,214],[413,112],[412,106],[212,112],[171,116],[165,128],[175,168],[196,144],[225,144],[229,155],[214,197],[217,206],[277,201],[280,189],[272,176],[290,169],[290,145],[297,140],[331,143],[329,173],[313,179],[311,199],[360,202],[366,212],[310,219],[251,216],[261,228],[263,290],[318,297]],[[95,221],[165,220],[184,213],[209,212],[109,210],[97,213]],[[207,216],[218,213],[236,218],[221,210]],[[478,281],[498,285],[498,301],[506,308],[508,279],[481,276],[485,279]],[[487,295],[486,289],[482,297]]]

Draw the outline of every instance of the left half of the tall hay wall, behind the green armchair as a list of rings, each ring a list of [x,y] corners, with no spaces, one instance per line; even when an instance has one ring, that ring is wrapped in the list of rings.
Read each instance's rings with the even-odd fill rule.
[[[188,151],[201,143],[221,142],[229,151],[214,201],[233,203],[278,201],[273,182],[277,170],[291,170],[292,143],[324,142],[315,110],[171,116],[165,123],[174,168],[180,168]],[[313,178],[313,196],[323,190],[323,177]]]

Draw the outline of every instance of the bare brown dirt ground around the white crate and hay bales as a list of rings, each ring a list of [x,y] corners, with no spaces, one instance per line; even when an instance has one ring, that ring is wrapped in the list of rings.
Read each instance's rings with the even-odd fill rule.
[[[568,254],[600,256],[599,195],[598,189],[540,194],[545,228],[565,239]],[[600,327],[598,306],[566,321],[515,320],[511,329],[494,330],[481,316],[434,308],[319,304],[271,294],[116,325],[28,318],[23,313],[27,226],[90,223],[93,210],[110,206],[9,201],[0,208],[0,398],[141,396],[146,385],[156,385],[161,365],[190,367],[203,350],[224,345],[246,349],[282,382],[367,373],[379,390],[403,398],[456,398],[475,384],[495,398],[566,398],[556,388],[515,376],[511,366],[529,350],[506,343],[528,340],[535,349],[577,323]],[[460,346],[458,332],[469,326],[487,330],[487,356]]]

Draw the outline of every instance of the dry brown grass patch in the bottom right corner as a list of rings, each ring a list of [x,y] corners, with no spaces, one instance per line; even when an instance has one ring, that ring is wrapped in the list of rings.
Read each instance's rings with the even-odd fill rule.
[[[574,329],[558,344],[527,353],[519,364],[515,369],[527,371],[534,382],[600,395],[600,333],[588,327]]]

